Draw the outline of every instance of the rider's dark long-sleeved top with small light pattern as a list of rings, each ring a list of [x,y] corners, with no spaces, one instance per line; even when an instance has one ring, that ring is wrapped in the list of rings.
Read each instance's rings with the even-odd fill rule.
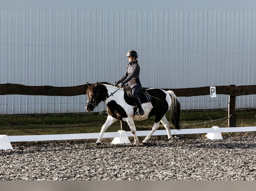
[[[137,84],[140,82],[139,74],[140,74],[140,66],[134,60],[127,65],[125,74],[118,81],[118,83],[123,82],[124,84],[126,84],[128,82],[128,85]]]

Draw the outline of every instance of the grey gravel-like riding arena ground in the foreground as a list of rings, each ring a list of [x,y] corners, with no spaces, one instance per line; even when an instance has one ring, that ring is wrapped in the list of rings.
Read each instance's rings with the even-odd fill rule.
[[[12,143],[0,150],[0,180],[255,180],[255,138]]]

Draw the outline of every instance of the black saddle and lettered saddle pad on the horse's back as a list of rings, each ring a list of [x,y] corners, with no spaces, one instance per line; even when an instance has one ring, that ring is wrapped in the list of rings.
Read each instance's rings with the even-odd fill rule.
[[[128,103],[129,105],[136,105],[132,96],[131,88],[128,86],[124,86],[123,88],[124,88],[124,100],[126,101],[126,103]],[[149,93],[143,88],[140,89],[137,95],[140,98],[141,104],[149,102],[153,99],[153,97],[151,97]]]

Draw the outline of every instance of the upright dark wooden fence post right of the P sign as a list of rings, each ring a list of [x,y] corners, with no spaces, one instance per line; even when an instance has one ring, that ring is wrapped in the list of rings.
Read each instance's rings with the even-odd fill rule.
[[[228,120],[228,127],[236,127],[236,114],[235,114],[235,110],[236,110],[236,96],[234,94],[234,87],[236,85],[229,85],[230,90],[232,90],[230,92],[229,95],[229,108],[228,108],[228,113],[230,116],[229,120]]]

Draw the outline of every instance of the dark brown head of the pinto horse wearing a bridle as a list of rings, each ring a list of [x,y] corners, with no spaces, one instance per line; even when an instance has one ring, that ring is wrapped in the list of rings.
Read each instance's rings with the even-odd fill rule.
[[[86,103],[86,110],[87,111],[93,111],[93,109],[101,102],[106,100],[106,97],[108,97],[108,91],[107,88],[102,84],[88,84],[88,89],[86,91],[86,95],[88,97],[87,103]]]

